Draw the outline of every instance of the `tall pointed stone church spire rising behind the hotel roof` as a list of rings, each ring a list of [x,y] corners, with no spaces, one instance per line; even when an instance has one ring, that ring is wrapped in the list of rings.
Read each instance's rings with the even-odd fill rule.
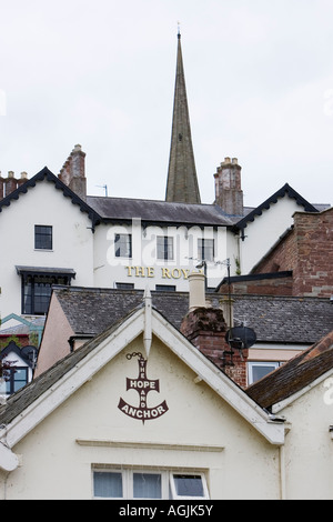
[[[173,120],[165,200],[183,203],[201,202],[192,147],[180,31],[178,32]]]

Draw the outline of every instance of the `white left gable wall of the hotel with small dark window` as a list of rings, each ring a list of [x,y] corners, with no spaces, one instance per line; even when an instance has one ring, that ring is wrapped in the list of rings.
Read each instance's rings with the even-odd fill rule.
[[[53,250],[34,250],[34,225],[53,227]],[[21,314],[21,277],[16,265],[71,268],[72,284],[93,284],[91,222],[51,182],[37,182],[0,213],[0,313]]]

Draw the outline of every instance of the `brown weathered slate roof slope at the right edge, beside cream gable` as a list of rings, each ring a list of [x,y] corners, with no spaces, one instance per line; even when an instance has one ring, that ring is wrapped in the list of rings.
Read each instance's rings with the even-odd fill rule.
[[[246,389],[262,408],[287,399],[333,368],[333,331]]]

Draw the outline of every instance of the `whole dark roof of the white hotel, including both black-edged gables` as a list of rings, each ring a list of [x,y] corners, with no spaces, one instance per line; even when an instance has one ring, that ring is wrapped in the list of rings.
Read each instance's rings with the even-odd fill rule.
[[[259,207],[254,209],[244,208],[244,217],[241,220],[240,217],[226,214],[218,204],[176,203],[159,200],[103,198],[95,195],[88,195],[85,201],[83,201],[54,175],[48,167],[44,167],[30,180],[26,181],[26,183],[22,183],[17,190],[0,200],[0,212],[3,208],[9,207],[13,200],[18,200],[21,194],[27,193],[30,188],[36,187],[39,181],[54,183],[56,189],[61,190],[64,197],[69,198],[73,204],[80,208],[81,212],[85,212],[89,215],[92,222],[92,230],[102,221],[129,223],[133,218],[137,218],[141,219],[143,225],[165,225],[165,223],[172,223],[176,227],[230,227],[234,232],[238,232],[244,229],[250,221],[254,221],[256,215],[261,215],[263,210],[276,203],[279,198],[283,198],[286,194],[295,199],[296,203],[307,212],[319,212],[322,208],[330,207],[309,203],[287,183]]]

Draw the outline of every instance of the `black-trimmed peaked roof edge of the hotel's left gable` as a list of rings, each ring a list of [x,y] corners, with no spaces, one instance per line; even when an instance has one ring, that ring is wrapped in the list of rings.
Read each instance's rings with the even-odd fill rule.
[[[6,198],[0,200],[0,212],[4,207],[9,207],[10,203],[14,200],[18,200],[21,194],[26,194],[28,190],[32,187],[36,187],[36,183],[39,181],[49,181],[54,183],[56,189],[61,190],[63,195],[69,198],[73,204],[79,205],[81,212],[87,212],[90,220],[93,223],[93,227],[101,221],[98,212],[89,207],[79,195],[77,195],[71,189],[69,189],[57,175],[54,175],[47,167],[44,167],[40,172],[33,175],[30,180],[22,183],[18,189],[8,194]]]

